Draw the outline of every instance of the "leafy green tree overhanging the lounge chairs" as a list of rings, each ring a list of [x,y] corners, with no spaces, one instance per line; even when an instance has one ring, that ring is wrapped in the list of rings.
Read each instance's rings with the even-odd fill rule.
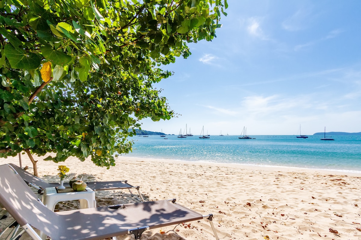
[[[174,113],[160,68],[211,41],[226,0],[1,0],[0,157],[114,166],[139,120]],[[128,129],[133,131],[129,132]],[[37,173],[35,172],[35,175]]]

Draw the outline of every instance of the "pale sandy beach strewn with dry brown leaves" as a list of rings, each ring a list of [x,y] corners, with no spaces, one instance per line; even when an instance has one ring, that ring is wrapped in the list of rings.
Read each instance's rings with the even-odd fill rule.
[[[119,157],[116,166],[107,170],[96,167],[90,160],[80,162],[69,158],[54,163],[43,161],[45,157],[36,158],[39,177],[45,181],[59,181],[58,165],[69,167],[69,176],[79,174],[85,180],[128,180],[140,186],[146,200],[176,198],[179,204],[199,213],[213,213],[222,240],[361,239],[360,174],[130,157]],[[19,165],[19,159],[0,159],[0,164],[6,163]],[[32,173],[26,155],[22,155],[22,166],[29,166]],[[129,191],[96,192],[97,206],[134,201]],[[77,201],[69,201],[61,202],[55,210],[77,208]],[[9,218],[0,221],[1,229],[6,221]],[[21,239],[29,236],[24,234]],[[211,240],[214,237],[207,220],[201,220],[147,231],[141,239]]]

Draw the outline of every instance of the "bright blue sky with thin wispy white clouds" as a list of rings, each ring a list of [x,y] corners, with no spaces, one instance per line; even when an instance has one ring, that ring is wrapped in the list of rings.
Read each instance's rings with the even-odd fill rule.
[[[361,132],[361,1],[228,0],[217,38],[163,67],[176,117],[143,130],[200,135]]]

